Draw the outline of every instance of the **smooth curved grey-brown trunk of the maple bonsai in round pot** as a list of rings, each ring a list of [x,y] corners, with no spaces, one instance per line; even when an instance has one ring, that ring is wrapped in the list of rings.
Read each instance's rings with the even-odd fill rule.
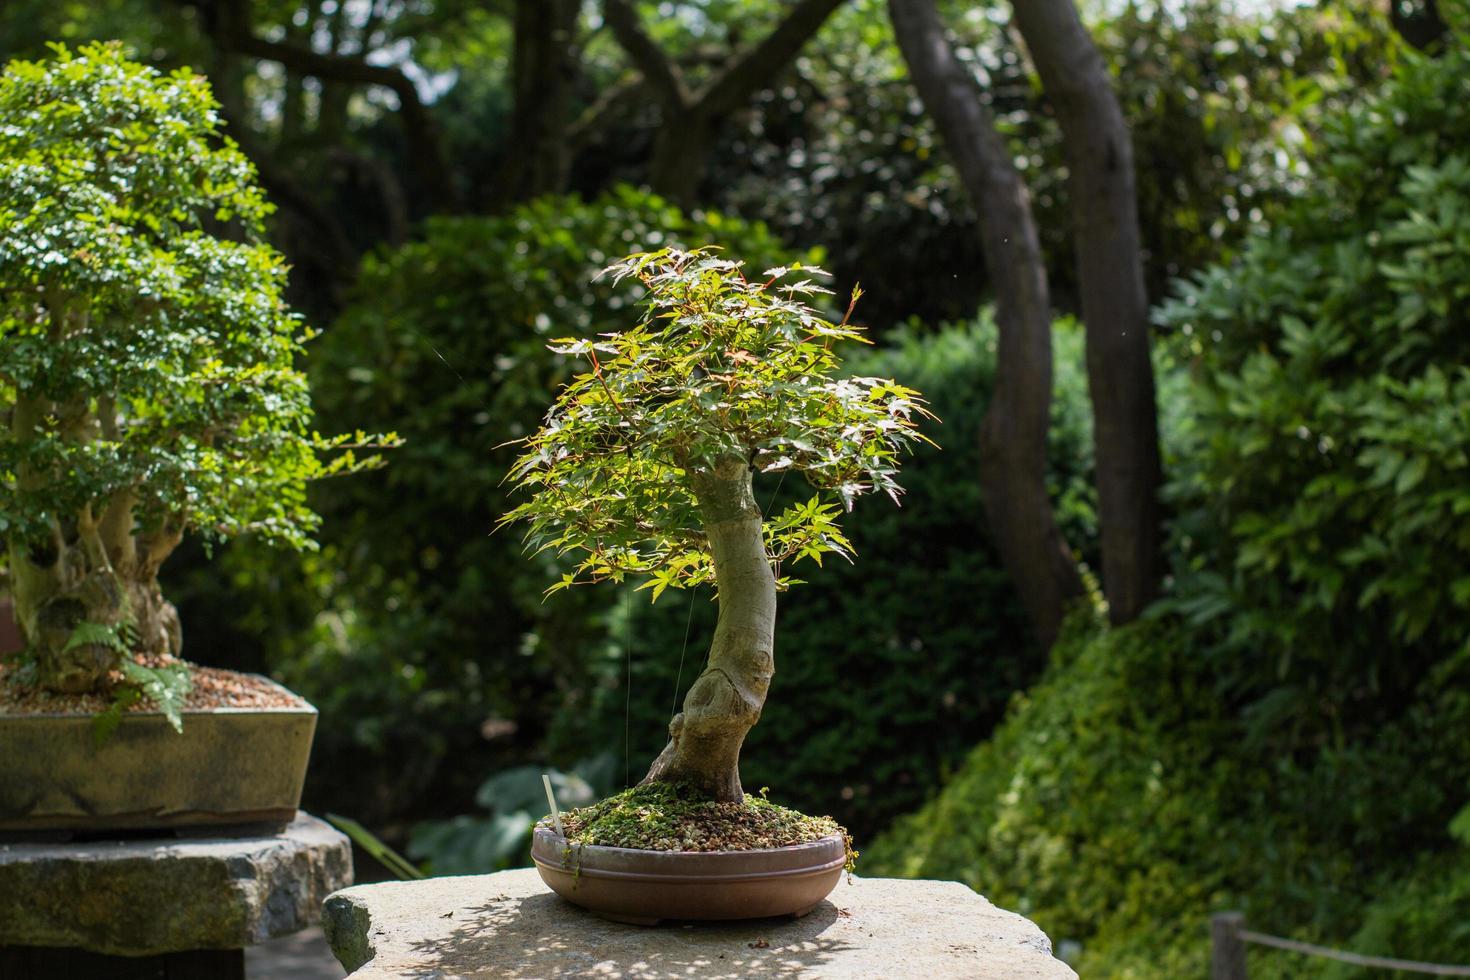
[[[714,558],[720,613],[704,673],[669,723],[669,745],[642,783],[689,783],[713,799],[739,802],[739,749],[760,720],[775,673],[776,576],[748,463],[722,457],[692,472],[691,482]]]

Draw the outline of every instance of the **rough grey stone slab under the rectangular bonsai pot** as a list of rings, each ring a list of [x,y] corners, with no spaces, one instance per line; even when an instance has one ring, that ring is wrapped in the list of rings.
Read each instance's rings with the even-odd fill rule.
[[[262,837],[0,843],[0,946],[241,949],[316,921],[351,880],[347,837],[304,813]]]

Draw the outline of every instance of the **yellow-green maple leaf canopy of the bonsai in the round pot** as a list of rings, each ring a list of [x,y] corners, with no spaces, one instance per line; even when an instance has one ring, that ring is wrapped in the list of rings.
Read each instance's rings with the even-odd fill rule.
[[[898,455],[917,441],[919,392],[881,378],[835,378],[839,341],[861,341],[847,316],[832,322],[807,306],[828,292],[820,269],[767,269],[747,279],[741,263],[709,248],[639,253],[606,272],[645,289],[632,329],[559,339],[551,350],[587,357],[557,397],[510,478],[534,497],[501,517],[529,523],[537,551],[582,554],[551,591],[641,573],[654,599],[666,588],[713,577],[689,475],[720,460],[756,472],[798,472],[817,489],[764,522],[778,582],[785,561],[851,545],[838,501],[885,491],[898,501]],[[807,278],[788,281],[792,273]]]

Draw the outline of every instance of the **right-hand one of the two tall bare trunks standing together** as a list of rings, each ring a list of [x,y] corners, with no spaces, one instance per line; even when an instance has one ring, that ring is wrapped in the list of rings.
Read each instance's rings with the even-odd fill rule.
[[[1067,153],[1088,338],[1102,591],[1114,623],[1158,589],[1158,417],[1138,232],[1133,141],[1107,65],[1072,0],[1013,0]]]

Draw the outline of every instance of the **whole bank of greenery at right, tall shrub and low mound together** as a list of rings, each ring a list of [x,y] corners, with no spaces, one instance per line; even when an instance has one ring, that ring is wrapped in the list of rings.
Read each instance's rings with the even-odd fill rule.
[[[1085,976],[1198,976],[1223,908],[1463,961],[1466,78],[1463,51],[1405,56],[1282,222],[1164,307],[1192,410],[1172,595],[1075,623],[870,871],[961,877]],[[1360,974],[1263,951],[1251,976]]]

